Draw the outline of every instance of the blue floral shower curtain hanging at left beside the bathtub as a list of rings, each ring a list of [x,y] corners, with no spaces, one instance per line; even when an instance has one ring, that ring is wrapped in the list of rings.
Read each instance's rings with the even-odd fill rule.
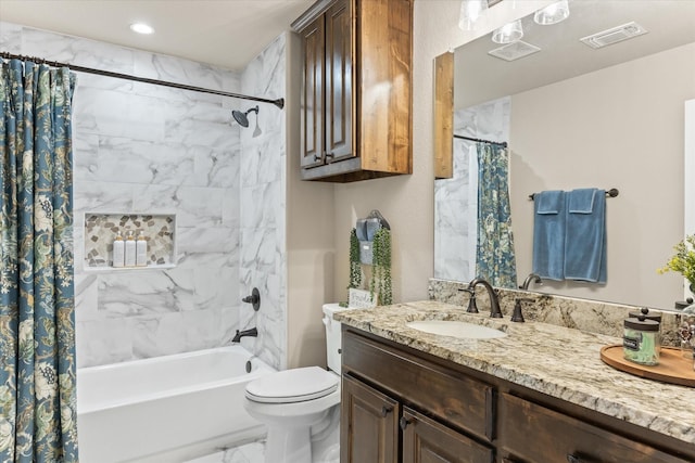
[[[77,462],[66,68],[0,75],[0,461]]]

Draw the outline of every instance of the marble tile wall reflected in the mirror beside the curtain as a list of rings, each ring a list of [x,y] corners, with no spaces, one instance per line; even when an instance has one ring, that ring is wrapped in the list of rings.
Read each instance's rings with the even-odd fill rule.
[[[454,113],[454,133],[508,141],[509,112],[509,98],[458,110]],[[454,177],[434,181],[437,279],[470,281],[476,273],[478,181],[475,145],[468,140],[454,139]]]

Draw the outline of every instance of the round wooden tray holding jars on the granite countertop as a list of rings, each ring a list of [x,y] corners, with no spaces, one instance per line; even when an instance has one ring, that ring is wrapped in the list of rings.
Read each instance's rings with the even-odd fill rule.
[[[641,365],[626,360],[622,357],[622,344],[602,347],[601,360],[617,370],[636,376],[695,387],[693,359],[683,358],[681,349],[674,347],[661,347],[659,364],[655,366]]]

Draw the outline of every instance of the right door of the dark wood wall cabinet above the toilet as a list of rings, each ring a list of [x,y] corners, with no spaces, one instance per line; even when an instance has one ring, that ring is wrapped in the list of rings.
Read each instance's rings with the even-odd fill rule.
[[[351,2],[326,12],[326,162],[352,157],[353,36]]]

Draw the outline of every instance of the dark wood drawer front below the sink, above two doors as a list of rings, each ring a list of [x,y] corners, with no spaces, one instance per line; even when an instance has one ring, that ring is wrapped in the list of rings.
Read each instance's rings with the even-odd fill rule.
[[[351,331],[343,332],[343,371],[447,424],[494,439],[495,388]]]

